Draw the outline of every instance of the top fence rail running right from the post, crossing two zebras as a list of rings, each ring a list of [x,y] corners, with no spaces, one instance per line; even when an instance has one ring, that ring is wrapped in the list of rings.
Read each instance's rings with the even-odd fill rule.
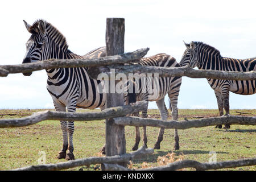
[[[212,70],[195,70],[189,67],[181,68],[164,68],[150,67],[143,65],[114,65],[100,68],[98,72],[105,72],[110,75],[110,69],[115,69],[115,74],[123,73],[152,73],[159,74],[159,77],[187,76],[191,78],[214,78],[222,80],[256,80],[256,72],[228,72],[228,71],[212,71]]]

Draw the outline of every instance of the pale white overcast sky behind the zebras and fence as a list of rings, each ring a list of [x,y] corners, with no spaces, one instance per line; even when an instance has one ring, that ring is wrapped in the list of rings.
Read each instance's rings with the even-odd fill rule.
[[[201,41],[221,55],[256,56],[254,1],[3,1],[0,5],[0,65],[22,63],[28,34],[22,19],[45,19],[84,55],[105,45],[106,18],[125,18],[125,52],[149,47],[147,56],[168,53],[179,62],[182,42]],[[53,107],[45,71],[0,77],[0,109]],[[167,101],[167,100],[166,100]],[[206,79],[183,77],[179,109],[217,109]],[[154,102],[150,108],[156,108]],[[256,94],[230,94],[231,109],[256,109]]]

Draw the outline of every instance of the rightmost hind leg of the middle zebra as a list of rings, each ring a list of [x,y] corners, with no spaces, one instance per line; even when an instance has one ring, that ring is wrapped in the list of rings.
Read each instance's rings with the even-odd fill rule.
[[[178,110],[177,110],[177,97],[179,96],[179,90],[172,90],[171,93],[168,94],[170,101],[170,109],[172,113],[172,120],[177,121],[178,120]],[[175,145],[174,145],[174,150],[180,150],[180,144],[179,144],[179,135],[177,133],[177,129],[174,131],[174,140],[175,140]]]

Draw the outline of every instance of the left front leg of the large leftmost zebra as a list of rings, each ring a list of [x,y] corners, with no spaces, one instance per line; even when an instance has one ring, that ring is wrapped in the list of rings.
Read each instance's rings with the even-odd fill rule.
[[[55,101],[53,101],[56,111],[66,111],[66,107],[61,105]],[[67,131],[67,121],[60,121],[60,126],[63,135],[63,147],[62,150],[59,152],[57,158],[58,159],[65,159],[66,151],[68,150],[68,131]]]

